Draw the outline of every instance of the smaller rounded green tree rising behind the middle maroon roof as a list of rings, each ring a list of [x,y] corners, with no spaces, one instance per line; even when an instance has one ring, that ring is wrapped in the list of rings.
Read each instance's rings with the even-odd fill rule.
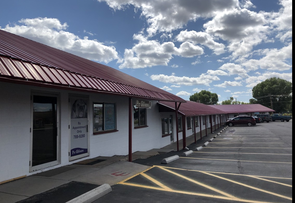
[[[218,102],[218,95],[216,93],[212,93],[207,90],[201,90],[199,93],[194,93],[189,97],[190,101],[197,101],[200,100],[200,103],[212,105],[217,104]]]

